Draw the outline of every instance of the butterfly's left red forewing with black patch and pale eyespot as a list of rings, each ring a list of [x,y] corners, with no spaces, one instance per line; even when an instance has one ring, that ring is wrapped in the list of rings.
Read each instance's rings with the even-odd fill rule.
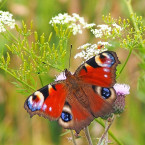
[[[24,107],[30,116],[38,114],[50,120],[57,120],[61,115],[66,94],[63,81],[55,82],[29,96]]]

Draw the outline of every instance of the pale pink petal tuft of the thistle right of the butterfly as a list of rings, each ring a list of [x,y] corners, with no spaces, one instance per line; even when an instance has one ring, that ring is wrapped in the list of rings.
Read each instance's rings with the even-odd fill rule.
[[[117,95],[128,95],[130,94],[130,86],[126,84],[115,84],[113,88],[116,91]]]

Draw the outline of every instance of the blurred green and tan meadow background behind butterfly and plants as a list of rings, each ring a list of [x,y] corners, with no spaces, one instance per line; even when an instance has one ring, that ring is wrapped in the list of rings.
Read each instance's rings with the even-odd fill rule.
[[[144,0],[133,0],[132,7],[137,15],[141,15],[145,19]],[[40,34],[45,32],[46,37],[53,31],[49,20],[58,13],[78,13],[88,23],[96,24],[102,24],[102,15],[109,13],[114,18],[119,16],[129,18],[124,0],[7,0],[1,10],[11,12],[17,24],[24,20],[29,25],[33,20],[34,29]],[[71,38],[72,56],[77,52],[77,47],[90,41],[95,43],[96,39],[87,32]],[[5,43],[6,40],[0,38],[0,50],[6,49]],[[120,61],[124,62],[128,51],[120,48],[116,48],[115,51]],[[15,63],[15,58],[12,61]],[[75,63],[72,57],[71,70],[75,71],[79,64]],[[145,101],[140,99],[140,92],[137,91],[140,75],[138,64],[139,60],[132,54],[127,67],[118,79],[119,83],[131,86],[130,95],[126,97],[125,111],[115,119],[111,126],[111,131],[124,145],[145,144]],[[0,70],[0,145],[71,145],[70,132],[60,136],[66,130],[59,127],[56,122],[49,122],[38,116],[29,117],[23,107],[27,96],[17,93],[12,81],[14,81],[13,78]],[[96,122],[91,124],[90,133],[94,141],[101,136],[102,132],[103,128]],[[83,132],[81,132],[81,136],[76,140],[77,144],[87,144]],[[111,138],[110,140],[116,144]]]

